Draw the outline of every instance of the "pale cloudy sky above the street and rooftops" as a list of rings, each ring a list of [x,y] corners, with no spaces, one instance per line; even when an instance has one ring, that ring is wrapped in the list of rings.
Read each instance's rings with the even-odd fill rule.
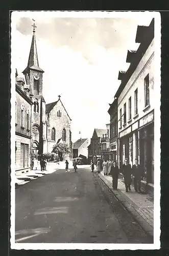
[[[28,63],[33,19],[46,103],[58,100],[72,119],[72,141],[91,138],[94,128],[106,129],[109,103],[127,70],[127,51],[137,50],[138,25],[149,26],[153,12],[13,12],[11,65],[19,75]],[[76,17],[75,17],[76,16]],[[81,134],[79,134],[81,132]]]

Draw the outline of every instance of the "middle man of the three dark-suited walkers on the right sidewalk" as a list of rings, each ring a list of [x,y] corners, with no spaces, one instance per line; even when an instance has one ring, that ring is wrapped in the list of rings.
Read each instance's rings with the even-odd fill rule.
[[[124,176],[125,180],[125,187],[126,187],[126,192],[128,192],[128,189],[131,190],[131,165],[128,163],[128,159],[125,158],[124,164],[122,166],[122,174]]]

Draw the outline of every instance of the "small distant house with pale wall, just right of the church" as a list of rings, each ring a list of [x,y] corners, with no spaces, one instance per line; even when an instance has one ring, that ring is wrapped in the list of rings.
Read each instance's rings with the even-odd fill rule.
[[[87,159],[89,145],[90,139],[80,138],[75,143],[73,143],[73,158],[82,157],[84,159]]]

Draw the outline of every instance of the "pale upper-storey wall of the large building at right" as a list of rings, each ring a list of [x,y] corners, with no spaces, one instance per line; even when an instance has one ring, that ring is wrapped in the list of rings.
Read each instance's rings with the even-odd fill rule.
[[[149,90],[150,90],[150,107],[145,109],[144,107],[144,78],[149,74]],[[134,92],[137,89],[138,95],[138,115],[134,118]],[[127,129],[132,123],[135,123],[138,119],[151,112],[154,109],[154,40],[151,42],[146,53],[143,55],[141,61],[139,62],[136,70],[132,74],[128,83],[126,84],[123,92],[118,97],[118,120],[120,118],[119,111],[122,108],[122,115],[124,114],[124,104],[126,103],[126,125],[123,126],[122,118],[122,128],[119,126],[118,121],[118,133]],[[131,97],[131,122],[129,122],[129,98]],[[135,127],[137,129],[137,127]]]

